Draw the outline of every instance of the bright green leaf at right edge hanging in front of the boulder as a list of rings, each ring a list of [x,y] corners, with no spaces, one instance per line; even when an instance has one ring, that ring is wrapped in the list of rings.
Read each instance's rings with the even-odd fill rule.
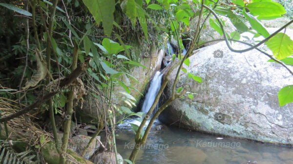
[[[293,85],[286,86],[278,92],[280,107],[293,102]]]

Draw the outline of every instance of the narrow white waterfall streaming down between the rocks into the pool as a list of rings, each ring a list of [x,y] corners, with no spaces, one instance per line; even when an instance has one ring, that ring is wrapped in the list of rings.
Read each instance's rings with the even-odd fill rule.
[[[154,103],[155,98],[161,88],[162,76],[163,74],[161,74],[161,72],[158,71],[156,72],[154,78],[151,80],[148,91],[146,93],[145,101],[143,103],[142,112],[147,113],[152,104]]]

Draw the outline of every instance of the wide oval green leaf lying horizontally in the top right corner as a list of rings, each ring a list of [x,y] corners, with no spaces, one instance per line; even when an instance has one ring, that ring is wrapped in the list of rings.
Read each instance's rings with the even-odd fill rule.
[[[274,1],[258,1],[249,3],[246,7],[254,16],[281,16],[286,13],[285,8]]]

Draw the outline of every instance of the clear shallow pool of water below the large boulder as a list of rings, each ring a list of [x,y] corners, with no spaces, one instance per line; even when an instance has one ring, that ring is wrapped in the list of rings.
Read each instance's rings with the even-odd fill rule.
[[[118,128],[116,134],[118,152],[127,159],[135,134],[130,128]],[[157,121],[136,164],[293,164],[293,147],[220,137],[162,126]]]

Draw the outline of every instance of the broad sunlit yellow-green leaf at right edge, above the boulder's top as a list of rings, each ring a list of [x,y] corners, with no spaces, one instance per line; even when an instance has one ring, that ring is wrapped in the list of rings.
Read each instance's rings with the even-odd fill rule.
[[[293,40],[284,33],[278,33],[270,38],[266,45],[277,59],[293,55]]]

